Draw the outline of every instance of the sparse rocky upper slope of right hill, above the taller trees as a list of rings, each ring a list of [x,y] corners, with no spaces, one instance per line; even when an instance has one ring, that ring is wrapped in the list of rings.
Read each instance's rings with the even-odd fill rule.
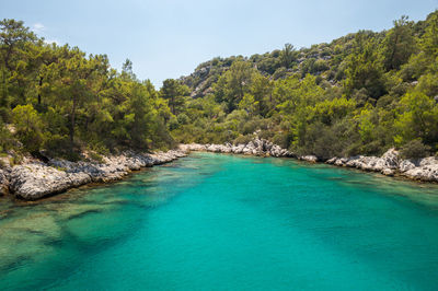
[[[433,15],[434,13],[428,19]],[[332,85],[342,85],[347,69],[346,60],[351,54],[357,53],[355,47],[359,45],[357,43],[359,37],[362,37],[362,40],[372,38],[372,44],[379,45],[380,49],[384,50],[381,51],[384,55],[381,56],[383,57],[381,60],[385,61],[384,69],[387,70],[400,69],[400,66],[407,62],[410,56],[417,51],[413,42],[415,42],[415,37],[420,37],[425,33],[426,22],[410,22],[407,16],[402,16],[394,21],[394,25],[397,27],[397,32],[360,31],[334,39],[330,44],[312,45],[310,48],[296,49],[293,45],[286,44],[283,49],[275,49],[263,55],[217,57],[200,63],[191,75],[182,77],[180,81],[191,89],[193,97],[205,96],[212,92],[211,85],[234,61],[246,61],[252,63],[261,74],[269,77],[270,80],[285,79],[296,74],[304,78],[309,73],[319,77],[316,79],[319,84],[327,81]],[[405,25],[408,25],[408,32],[405,31],[407,27],[400,27]],[[391,34],[391,37],[387,37],[388,33]],[[393,47],[383,42],[392,43]],[[360,45],[364,44],[362,42]],[[399,47],[395,48],[395,46]]]

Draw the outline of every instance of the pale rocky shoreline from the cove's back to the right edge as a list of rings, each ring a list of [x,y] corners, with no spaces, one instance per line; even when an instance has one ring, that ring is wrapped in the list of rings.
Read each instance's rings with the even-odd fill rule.
[[[403,176],[413,181],[438,182],[438,159],[428,156],[417,160],[403,160],[395,149],[388,150],[382,156],[357,155],[350,158],[332,158],[321,161],[315,155],[297,155],[264,139],[254,139],[246,144],[182,144],[187,151],[234,153],[257,156],[295,158],[311,163],[325,162],[336,166],[378,172],[387,176]]]

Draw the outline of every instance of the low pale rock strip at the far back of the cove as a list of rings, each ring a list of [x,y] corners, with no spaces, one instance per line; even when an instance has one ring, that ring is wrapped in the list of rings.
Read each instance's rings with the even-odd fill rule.
[[[276,156],[276,158],[292,158],[296,156],[288,150],[281,149],[279,146],[272,143],[265,139],[254,139],[246,144],[181,144],[183,151],[206,151],[219,153],[235,153],[257,156]]]

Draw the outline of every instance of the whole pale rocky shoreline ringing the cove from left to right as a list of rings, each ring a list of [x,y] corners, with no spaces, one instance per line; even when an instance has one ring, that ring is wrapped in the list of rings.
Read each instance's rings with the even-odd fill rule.
[[[139,153],[127,151],[118,155],[103,156],[99,162],[69,162],[51,159],[47,163],[28,159],[22,164],[0,170],[0,195],[10,194],[22,200],[38,200],[88,184],[119,181],[132,171],[172,162],[192,151],[232,153],[254,156],[292,158],[309,163],[326,163],[335,166],[377,172],[385,176],[400,176],[411,181],[438,183],[438,160],[428,156],[402,160],[400,153],[388,150],[382,156],[357,155],[332,158],[320,161],[314,155],[297,155],[264,139],[246,144],[180,144],[168,152]]]

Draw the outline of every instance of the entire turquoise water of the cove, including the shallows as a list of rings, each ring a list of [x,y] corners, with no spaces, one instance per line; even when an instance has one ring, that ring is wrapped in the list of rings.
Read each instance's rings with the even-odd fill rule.
[[[196,153],[0,201],[0,290],[438,289],[437,185]]]

